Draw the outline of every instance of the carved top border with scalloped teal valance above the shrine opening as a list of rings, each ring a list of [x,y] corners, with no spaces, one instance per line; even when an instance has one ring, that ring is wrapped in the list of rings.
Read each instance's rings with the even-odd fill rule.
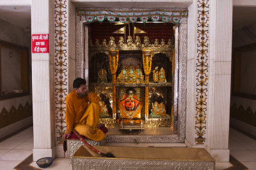
[[[105,19],[114,22],[118,19],[120,22],[135,23],[140,19],[141,22],[147,22],[150,18],[153,22],[163,21],[165,23],[172,20],[174,24],[179,24],[180,18],[188,17],[188,10],[77,10],[78,16],[84,16],[87,22],[97,20],[103,22]]]

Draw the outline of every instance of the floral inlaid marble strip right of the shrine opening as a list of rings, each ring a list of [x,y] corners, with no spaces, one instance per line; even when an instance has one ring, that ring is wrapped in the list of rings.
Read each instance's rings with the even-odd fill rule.
[[[204,145],[209,81],[209,0],[197,2],[195,142]]]

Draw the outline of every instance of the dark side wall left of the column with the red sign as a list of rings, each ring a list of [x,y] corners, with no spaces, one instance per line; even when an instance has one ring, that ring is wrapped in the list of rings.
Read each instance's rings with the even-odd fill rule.
[[[0,39],[29,48],[29,82],[31,81],[30,32],[0,19]],[[10,69],[10,68],[9,68]],[[33,124],[31,85],[28,96],[0,100],[0,139]]]

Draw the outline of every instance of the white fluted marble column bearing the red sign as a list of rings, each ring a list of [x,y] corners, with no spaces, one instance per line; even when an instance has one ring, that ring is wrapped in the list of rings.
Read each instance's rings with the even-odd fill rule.
[[[31,4],[31,34],[49,34],[49,53],[32,53],[33,92],[33,160],[55,157],[54,106],[52,99],[52,1],[33,0]]]

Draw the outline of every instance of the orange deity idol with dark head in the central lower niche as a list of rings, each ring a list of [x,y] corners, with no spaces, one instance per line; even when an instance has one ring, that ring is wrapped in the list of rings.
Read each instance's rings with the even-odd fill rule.
[[[141,118],[141,101],[136,96],[136,90],[127,89],[126,94],[118,101],[118,108],[121,112],[120,118]]]

